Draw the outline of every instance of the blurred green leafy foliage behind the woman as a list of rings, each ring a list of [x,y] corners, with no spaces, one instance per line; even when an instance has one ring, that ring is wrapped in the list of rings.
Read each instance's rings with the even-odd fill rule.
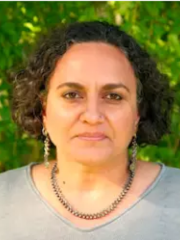
[[[180,168],[180,2],[0,2],[0,172],[43,161],[42,143],[13,124],[8,72],[26,60],[37,36],[61,22],[107,20],[147,48],[176,91],[172,134],[138,151],[146,161]]]

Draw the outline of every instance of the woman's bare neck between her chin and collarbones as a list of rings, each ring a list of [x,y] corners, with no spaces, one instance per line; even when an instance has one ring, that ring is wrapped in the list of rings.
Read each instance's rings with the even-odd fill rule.
[[[129,176],[128,155],[119,155],[101,165],[89,166],[68,161],[57,152],[57,180],[66,192],[107,192],[124,187]]]

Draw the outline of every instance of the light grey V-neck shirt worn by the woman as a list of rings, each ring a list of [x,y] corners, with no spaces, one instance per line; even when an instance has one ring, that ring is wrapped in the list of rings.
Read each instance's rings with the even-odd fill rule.
[[[180,169],[161,164],[155,181],[118,216],[75,227],[43,199],[30,167],[0,174],[0,240],[179,240]]]

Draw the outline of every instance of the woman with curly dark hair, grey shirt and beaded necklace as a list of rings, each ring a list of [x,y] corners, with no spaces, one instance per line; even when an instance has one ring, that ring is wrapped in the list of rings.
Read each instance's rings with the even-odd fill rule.
[[[172,103],[166,76],[118,27],[53,31],[14,80],[13,119],[45,154],[0,175],[0,239],[178,240],[180,170],[136,160],[137,144],[169,133]]]

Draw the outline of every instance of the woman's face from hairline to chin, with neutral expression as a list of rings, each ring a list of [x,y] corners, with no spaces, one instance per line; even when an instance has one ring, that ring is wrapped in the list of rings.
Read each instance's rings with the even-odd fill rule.
[[[125,55],[106,43],[71,46],[50,79],[44,113],[58,154],[84,164],[117,159],[138,120],[136,78]]]

